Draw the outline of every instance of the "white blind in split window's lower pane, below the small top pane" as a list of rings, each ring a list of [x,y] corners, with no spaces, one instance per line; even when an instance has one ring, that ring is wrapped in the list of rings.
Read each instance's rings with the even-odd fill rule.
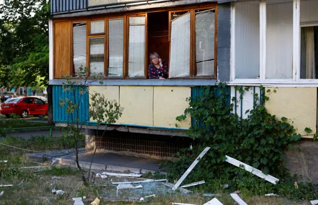
[[[104,75],[104,37],[89,39],[89,68],[91,75]]]

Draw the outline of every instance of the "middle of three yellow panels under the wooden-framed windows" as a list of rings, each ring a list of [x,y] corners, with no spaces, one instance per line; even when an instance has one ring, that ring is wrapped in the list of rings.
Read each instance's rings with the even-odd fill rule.
[[[117,123],[154,126],[154,87],[120,86],[119,98],[124,111]]]

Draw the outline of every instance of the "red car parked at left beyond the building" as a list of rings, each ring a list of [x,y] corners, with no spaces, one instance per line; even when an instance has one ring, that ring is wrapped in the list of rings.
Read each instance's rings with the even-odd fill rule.
[[[1,104],[0,113],[6,117],[14,113],[22,118],[28,115],[47,115],[48,103],[33,97],[13,98]]]

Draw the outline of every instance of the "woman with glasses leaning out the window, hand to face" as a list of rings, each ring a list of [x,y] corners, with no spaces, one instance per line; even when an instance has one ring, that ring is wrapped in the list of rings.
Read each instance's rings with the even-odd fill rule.
[[[157,52],[149,55],[150,65],[148,67],[149,78],[151,79],[166,79],[168,78],[168,64],[162,61]]]

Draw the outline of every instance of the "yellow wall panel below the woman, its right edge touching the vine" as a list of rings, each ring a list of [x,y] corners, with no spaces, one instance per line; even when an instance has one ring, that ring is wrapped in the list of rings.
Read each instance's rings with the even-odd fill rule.
[[[181,123],[175,120],[189,106],[190,96],[189,87],[154,87],[154,126],[175,128],[178,123],[178,128],[190,128],[190,116]]]

